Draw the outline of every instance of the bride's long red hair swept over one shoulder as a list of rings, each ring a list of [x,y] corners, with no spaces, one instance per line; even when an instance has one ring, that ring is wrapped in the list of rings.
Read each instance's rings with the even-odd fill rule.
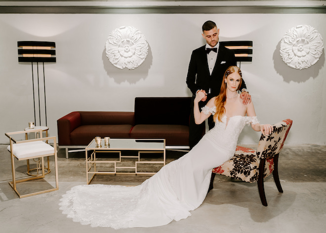
[[[221,84],[221,91],[220,94],[216,97],[215,99],[215,106],[216,106],[216,113],[213,116],[214,122],[216,122],[216,119],[218,121],[222,121],[222,117],[225,113],[225,102],[226,102],[226,82],[225,79],[232,73],[237,72],[241,79],[240,79],[240,84],[237,89],[237,91],[240,89],[241,84],[242,84],[242,72],[238,66],[230,66],[224,73],[223,79],[222,79],[222,84]]]

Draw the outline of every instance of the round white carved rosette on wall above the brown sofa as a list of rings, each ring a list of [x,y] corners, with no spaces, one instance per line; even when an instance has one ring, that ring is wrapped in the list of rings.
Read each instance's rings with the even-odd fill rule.
[[[106,41],[105,49],[110,62],[119,69],[137,68],[148,54],[145,36],[131,26],[113,30]]]

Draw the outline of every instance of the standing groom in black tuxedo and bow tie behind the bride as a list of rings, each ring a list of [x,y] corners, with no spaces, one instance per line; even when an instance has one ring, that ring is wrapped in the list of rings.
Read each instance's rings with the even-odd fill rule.
[[[189,123],[189,145],[190,148],[195,146],[203,137],[205,123],[197,125],[194,118],[194,99],[197,92],[204,92],[206,97],[200,102],[199,109],[205,106],[208,100],[220,93],[223,75],[229,66],[237,65],[234,53],[223,46],[220,46],[219,29],[213,21],[206,21],[202,27],[203,38],[207,44],[193,51],[187,74],[187,85],[193,93],[192,109]],[[250,95],[246,90],[244,80],[241,88],[241,98],[244,104],[250,101]],[[209,129],[214,127],[213,116],[208,118]]]

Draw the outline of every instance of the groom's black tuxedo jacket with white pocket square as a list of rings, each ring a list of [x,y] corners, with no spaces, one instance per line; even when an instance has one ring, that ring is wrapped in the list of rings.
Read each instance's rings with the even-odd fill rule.
[[[233,65],[237,65],[233,51],[220,45],[216,63],[210,75],[205,46],[195,49],[189,63],[187,75],[188,88],[194,96],[196,92],[201,89],[208,93],[209,88],[211,89],[211,93],[209,94],[210,97],[217,96],[220,93],[224,72],[229,66]],[[245,88],[244,81],[242,82],[240,90],[243,88]]]

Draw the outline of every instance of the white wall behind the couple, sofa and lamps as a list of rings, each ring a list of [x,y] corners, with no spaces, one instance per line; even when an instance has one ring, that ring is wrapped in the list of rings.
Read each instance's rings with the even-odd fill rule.
[[[57,62],[44,65],[47,124],[56,136],[57,119],[72,111],[133,111],[136,96],[191,96],[187,69],[192,50],[204,45],[206,20],[217,23],[221,41],[253,41],[252,62],[241,68],[260,122],[290,118],[288,144],[325,144],[325,52],[295,70],[279,50],[284,34],[301,24],[325,40],[326,14],[0,14],[0,143],[8,143],[4,132],[34,121],[31,63],[18,62],[17,41],[56,43]],[[123,25],[139,29],[149,44],[135,70],[120,70],[105,55],[107,37]],[[248,127],[239,142],[257,140]]]

